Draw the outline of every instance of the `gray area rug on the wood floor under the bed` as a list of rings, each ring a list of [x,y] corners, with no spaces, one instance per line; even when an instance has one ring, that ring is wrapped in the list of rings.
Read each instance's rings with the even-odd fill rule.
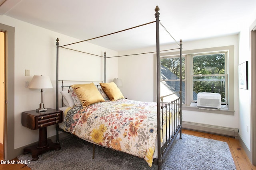
[[[178,135],[179,137],[179,135]],[[144,159],[103,147],[95,147],[92,159],[92,144],[74,136],[60,140],[61,150],[52,150],[39,155],[28,166],[32,170],[156,170]],[[31,154],[18,156],[30,160]],[[234,170],[236,166],[228,144],[222,141],[182,134],[168,152],[162,170]]]

